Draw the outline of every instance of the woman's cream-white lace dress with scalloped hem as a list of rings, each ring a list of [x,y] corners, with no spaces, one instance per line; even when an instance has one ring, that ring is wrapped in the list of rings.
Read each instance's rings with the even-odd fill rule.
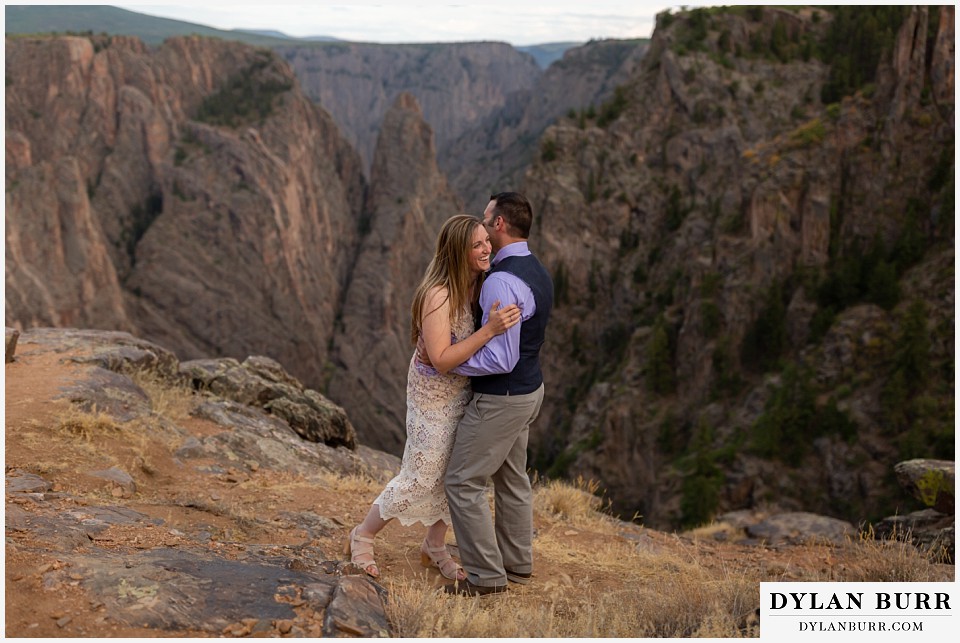
[[[451,329],[451,341],[463,341],[473,330],[473,315],[464,311]],[[450,524],[443,478],[470,396],[470,378],[441,375],[418,362],[414,351],[407,369],[407,443],[400,473],[373,501],[383,520],[396,518],[404,526]]]

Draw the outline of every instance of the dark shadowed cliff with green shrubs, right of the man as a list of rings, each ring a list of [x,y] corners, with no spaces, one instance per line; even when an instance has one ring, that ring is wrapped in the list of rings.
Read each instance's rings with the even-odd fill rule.
[[[831,14],[667,16],[616,118],[547,130],[554,154],[524,187],[558,301],[538,468],[602,481],[649,524],[889,509],[910,439],[932,450],[952,431],[953,9],[931,11],[929,46],[915,8],[875,84],[832,105],[830,66],[797,53]],[[793,55],[757,53],[785,42]],[[831,294],[850,266],[859,299]],[[899,299],[882,295],[891,274]],[[917,299],[935,374],[895,426]]]

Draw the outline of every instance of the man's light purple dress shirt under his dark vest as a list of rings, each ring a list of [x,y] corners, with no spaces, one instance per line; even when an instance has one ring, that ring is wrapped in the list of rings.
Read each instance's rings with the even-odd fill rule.
[[[495,266],[507,257],[524,257],[529,254],[527,242],[517,241],[500,248],[491,265]],[[490,318],[490,307],[498,299],[501,308],[510,304],[520,306],[520,323],[491,339],[470,359],[450,369],[452,372],[469,376],[495,375],[509,373],[517,365],[520,360],[520,326],[523,325],[523,321],[530,319],[537,312],[537,302],[530,286],[522,279],[506,271],[495,272],[487,277],[483,282],[483,288],[480,289],[482,323],[487,323]]]

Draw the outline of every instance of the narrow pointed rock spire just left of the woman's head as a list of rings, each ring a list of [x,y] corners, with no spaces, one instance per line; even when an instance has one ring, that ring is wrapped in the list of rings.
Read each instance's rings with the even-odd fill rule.
[[[362,442],[400,453],[413,353],[410,302],[440,226],[460,210],[411,94],[400,94],[383,120],[366,207],[369,234],[337,327],[329,394],[347,408]]]

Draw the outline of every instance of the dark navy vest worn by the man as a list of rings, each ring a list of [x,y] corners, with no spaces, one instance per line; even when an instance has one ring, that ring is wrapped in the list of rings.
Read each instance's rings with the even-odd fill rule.
[[[507,257],[490,269],[509,272],[533,291],[537,311],[520,325],[520,361],[510,373],[470,378],[474,393],[493,395],[525,395],[543,384],[540,371],[540,347],[543,345],[547,321],[553,308],[553,280],[543,264],[533,255]]]

